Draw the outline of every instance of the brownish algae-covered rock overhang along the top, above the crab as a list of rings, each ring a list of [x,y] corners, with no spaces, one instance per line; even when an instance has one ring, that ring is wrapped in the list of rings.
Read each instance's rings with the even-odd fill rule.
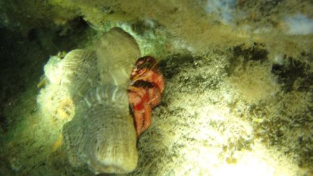
[[[170,40],[182,41],[191,46],[198,55],[210,47],[227,49],[236,45],[252,47],[254,42],[264,43],[273,56],[284,53],[298,56],[301,51],[309,52],[312,34],[289,35],[284,20],[289,15],[303,13],[310,17],[310,1],[225,1],[234,3],[228,10],[229,23],[223,23],[225,16],[222,4],[217,1],[86,1],[51,0],[51,6],[74,12],[93,26],[102,29],[112,23],[128,23],[138,29],[141,22],[154,21],[169,33]],[[225,5],[224,3],[224,5]],[[220,6],[213,13],[206,7]],[[147,8],[149,7],[149,8]],[[220,13],[222,10],[222,13]],[[61,11],[62,12],[62,11]],[[217,13],[217,14],[216,14]],[[62,14],[62,13],[61,13]],[[155,28],[159,28],[155,26]],[[142,26],[140,27],[141,29]],[[139,30],[139,29],[138,29]],[[143,33],[143,30],[137,32]],[[306,43],[306,44],[304,44]],[[172,43],[172,45],[174,45]],[[168,48],[170,49],[170,48]]]

